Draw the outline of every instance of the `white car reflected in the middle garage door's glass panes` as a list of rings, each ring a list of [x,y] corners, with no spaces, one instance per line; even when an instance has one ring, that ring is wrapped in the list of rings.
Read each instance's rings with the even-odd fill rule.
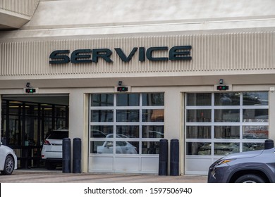
[[[114,134],[108,134],[106,138],[113,138]],[[127,136],[117,134],[116,138],[127,138]],[[113,153],[114,142],[104,141],[102,146],[97,146],[97,153]],[[116,141],[116,153],[120,154],[138,154],[137,148],[128,141]]]

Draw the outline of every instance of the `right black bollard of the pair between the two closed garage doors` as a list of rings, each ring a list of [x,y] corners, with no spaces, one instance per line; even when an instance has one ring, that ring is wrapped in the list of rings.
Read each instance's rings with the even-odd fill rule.
[[[170,143],[170,175],[179,175],[180,148],[178,139],[171,139]]]

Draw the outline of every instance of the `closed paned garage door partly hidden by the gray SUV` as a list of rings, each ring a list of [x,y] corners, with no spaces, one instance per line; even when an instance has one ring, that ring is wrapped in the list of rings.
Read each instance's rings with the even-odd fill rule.
[[[223,155],[264,148],[268,92],[185,94],[185,174],[207,174]]]

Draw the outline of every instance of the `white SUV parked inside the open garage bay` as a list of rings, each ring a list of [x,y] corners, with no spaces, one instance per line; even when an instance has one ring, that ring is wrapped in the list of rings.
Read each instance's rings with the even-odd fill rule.
[[[62,165],[62,140],[68,138],[68,129],[56,129],[49,134],[44,141],[41,157],[48,170],[56,169],[57,165]]]

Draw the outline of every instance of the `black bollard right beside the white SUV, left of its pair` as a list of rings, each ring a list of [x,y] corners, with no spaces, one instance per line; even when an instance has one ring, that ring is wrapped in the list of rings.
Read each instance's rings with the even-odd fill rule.
[[[62,139],[62,172],[71,172],[71,139]]]

